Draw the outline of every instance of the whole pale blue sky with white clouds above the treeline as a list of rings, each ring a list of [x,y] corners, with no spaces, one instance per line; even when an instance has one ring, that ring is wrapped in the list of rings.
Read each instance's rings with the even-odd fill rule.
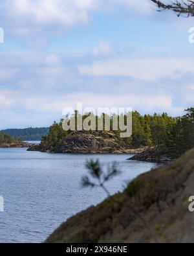
[[[173,116],[193,106],[194,17],[149,0],[0,0],[0,12],[0,129],[50,126],[76,102]]]

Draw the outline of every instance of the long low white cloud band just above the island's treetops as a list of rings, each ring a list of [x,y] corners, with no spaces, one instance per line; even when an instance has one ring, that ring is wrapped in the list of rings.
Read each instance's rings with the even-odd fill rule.
[[[60,115],[63,108],[76,108],[77,102],[83,103],[83,108],[133,108],[141,110],[142,113],[154,113],[155,111],[168,111],[175,113],[181,108],[173,107],[173,97],[171,95],[150,95],[143,93],[138,95],[125,94],[103,94],[103,93],[61,93],[52,95],[26,95],[23,91],[0,91],[1,106],[13,108],[23,108],[25,112],[33,111],[43,113],[56,113]],[[184,109],[184,108],[182,108]]]

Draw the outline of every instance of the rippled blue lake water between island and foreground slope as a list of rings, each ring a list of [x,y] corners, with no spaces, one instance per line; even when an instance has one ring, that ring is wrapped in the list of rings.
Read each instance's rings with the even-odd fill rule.
[[[146,172],[155,163],[126,160],[129,154],[74,155],[27,152],[27,148],[0,148],[0,242],[43,242],[70,216],[106,198],[101,189],[82,189],[87,159],[104,167],[118,162],[122,175],[107,183],[111,193]]]

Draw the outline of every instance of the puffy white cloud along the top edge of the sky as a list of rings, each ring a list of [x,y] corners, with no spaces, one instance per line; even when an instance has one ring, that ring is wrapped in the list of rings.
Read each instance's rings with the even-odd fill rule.
[[[93,12],[110,11],[147,15],[152,10],[146,0],[139,0],[138,5],[136,0],[5,0],[1,4],[2,18],[12,24],[12,32],[19,36],[43,28],[56,31],[56,27],[61,30],[87,25]]]

